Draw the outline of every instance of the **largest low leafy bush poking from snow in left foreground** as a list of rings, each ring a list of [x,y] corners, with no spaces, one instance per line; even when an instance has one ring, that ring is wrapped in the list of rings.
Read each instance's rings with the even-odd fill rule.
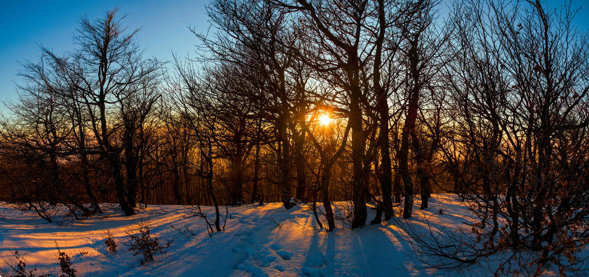
[[[160,245],[160,238],[151,238],[150,231],[154,227],[149,226],[149,220],[141,219],[141,222],[137,223],[130,230],[125,231],[129,235],[127,242],[123,245],[127,246],[128,252],[133,252],[133,256],[142,255],[143,259],[139,261],[140,265],[144,265],[145,262],[153,260],[153,255],[160,253],[164,255],[167,253],[164,249],[170,247],[174,242],[174,238],[166,240],[166,246]]]

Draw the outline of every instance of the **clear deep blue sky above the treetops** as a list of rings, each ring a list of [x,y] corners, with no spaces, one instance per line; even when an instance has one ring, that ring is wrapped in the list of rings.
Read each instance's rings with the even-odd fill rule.
[[[90,18],[102,17],[105,10],[120,7],[119,15],[129,14],[122,25],[130,29],[143,27],[138,34],[140,45],[147,57],[172,60],[172,52],[185,57],[194,55],[198,40],[187,26],[206,32],[209,27],[204,6],[209,0],[168,1],[4,1],[0,11],[0,100],[14,98],[15,84],[22,84],[16,76],[20,68],[17,61],[39,59],[38,43],[53,49],[56,54],[71,50],[71,38],[78,27],[76,19],[87,14]],[[555,7],[564,0],[550,0]],[[573,0],[572,7],[581,8],[585,1]],[[442,8],[444,12],[447,9]],[[589,29],[589,6],[575,17],[574,24]],[[4,110],[0,105],[0,110]]]

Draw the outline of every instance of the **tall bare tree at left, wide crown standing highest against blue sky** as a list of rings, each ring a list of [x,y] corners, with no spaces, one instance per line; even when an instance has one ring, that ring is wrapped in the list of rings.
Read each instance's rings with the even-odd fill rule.
[[[127,200],[127,184],[123,177],[122,146],[117,144],[115,134],[119,118],[115,111],[124,101],[140,91],[150,90],[157,81],[162,62],[143,60],[135,35],[139,29],[125,34],[118,8],[105,12],[104,18],[91,21],[88,17],[78,20],[80,28],[74,36],[78,48],[59,57],[48,48],[41,47],[43,58],[40,64],[27,62],[25,67],[38,68],[26,73],[29,80],[59,97],[68,98],[71,107],[83,109],[84,128],[92,133],[95,145],[82,143],[78,151],[97,154],[110,165],[110,174],[117,191],[117,201],[125,215],[134,215]],[[78,122],[78,124],[82,124]],[[79,133],[81,134],[81,133]],[[86,134],[84,136],[87,136]],[[134,197],[131,197],[134,199]]]

